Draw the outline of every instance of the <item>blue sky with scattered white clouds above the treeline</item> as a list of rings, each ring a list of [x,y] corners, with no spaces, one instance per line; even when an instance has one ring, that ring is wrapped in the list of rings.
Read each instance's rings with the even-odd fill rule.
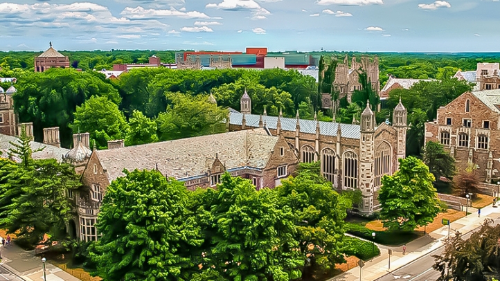
[[[0,26],[0,51],[494,52],[500,0],[11,0]]]

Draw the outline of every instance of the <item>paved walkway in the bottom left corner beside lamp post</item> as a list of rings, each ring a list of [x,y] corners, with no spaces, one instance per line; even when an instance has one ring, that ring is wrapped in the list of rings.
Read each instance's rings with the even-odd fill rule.
[[[44,270],[40,257],[35,256],[35,251],[24,251],[12,243],[7,248],[1,248],[1,265],[8,271],[15,273],[26,281],[43,280]],[[47,281],[79,281],[66,271],[46,262]]]

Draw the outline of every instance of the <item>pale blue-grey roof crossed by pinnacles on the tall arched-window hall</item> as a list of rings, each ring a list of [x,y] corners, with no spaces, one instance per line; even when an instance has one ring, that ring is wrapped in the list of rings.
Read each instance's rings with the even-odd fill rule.
[[[245,123],[247,127],[259,127],[260,115],[255,114],[245,114]],[[240,113],[230,113],[229,123],[231,125],[242,125],[243,114]],[[266,123],[267,128],[276,129],[278,124],[277,116],[262,116],[262,122]],[[295,132],[295,127],[297,124],[296,118],[280,118],[281,129],[283,131]],[[315,120],[305,120],[299,119],[299,124],[301,125],[301,132],[305,134],[316,134],[316,121]],[[339,123],[330,123],[319,121],[319,134],[323,136],[337,136],[337,128]],[[340,129],[342,131],[343,138],[354,138],[359,139],[361,137],[359,125],[351,124],[340,124]]]

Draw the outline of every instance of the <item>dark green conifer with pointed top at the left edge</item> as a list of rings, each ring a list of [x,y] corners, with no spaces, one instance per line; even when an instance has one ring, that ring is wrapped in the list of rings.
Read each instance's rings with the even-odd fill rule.
[[[3,160],[0,168],[0,228],[29,244],[42,240],[44,234],[64,239],[71,219],[69,190],[80,186],[73,167],[55,159],[33,160],[30,138],[24,132],[18,143],[11,143],[12,158]]]

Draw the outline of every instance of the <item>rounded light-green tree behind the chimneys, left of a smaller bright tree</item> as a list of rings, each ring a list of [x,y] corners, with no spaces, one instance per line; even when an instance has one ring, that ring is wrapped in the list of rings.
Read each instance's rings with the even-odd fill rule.
[[[75,121],[69,127],[73,132],[89,132],[98,149],[106,149],[107,141],[124,139],[129,129],[118,105],[97,96],[76,107]]]

